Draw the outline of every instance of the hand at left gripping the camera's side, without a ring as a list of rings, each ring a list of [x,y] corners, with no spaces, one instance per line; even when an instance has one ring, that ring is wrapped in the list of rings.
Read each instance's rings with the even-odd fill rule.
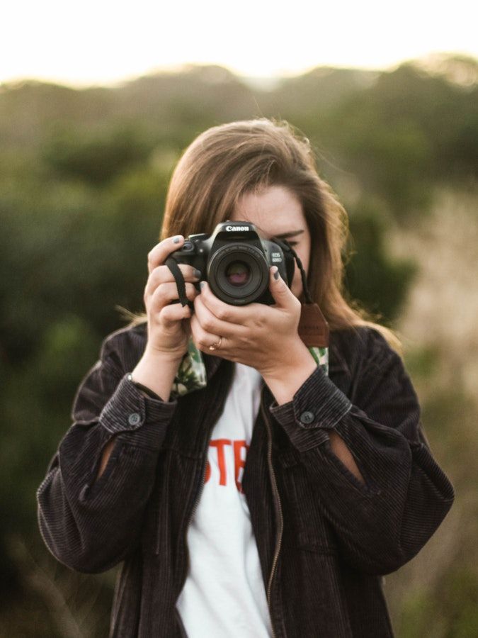
[[[164,262],[183,243],[182,235],[167,237],[149,252],[149,277],[144,289],[144,306],[148,316],[147,349],[150,354],[159,354],[172,361],[182,359],[188,350],[191,310],[188,306],[181,306],[181,303],[171,303],[178,300],[178,287]],[[201,274],[186,264],[179,264],[179,268],[186,283],[186,297],[194,301],[199,293],[193,282],[200,281]]]

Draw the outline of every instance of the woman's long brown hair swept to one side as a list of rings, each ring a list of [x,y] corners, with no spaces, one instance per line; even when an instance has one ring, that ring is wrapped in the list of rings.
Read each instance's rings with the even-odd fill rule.
[[[330,329],[368,325],[401,352],[392,330],[344,298],[347,213],[317,174],[309,140],[285,121],[232,122],[199,135],[171,177],[160,238],[210,234],[232,216],[241,195],[273,185],[290,189],[302,203],[311,237],[307,283]]]

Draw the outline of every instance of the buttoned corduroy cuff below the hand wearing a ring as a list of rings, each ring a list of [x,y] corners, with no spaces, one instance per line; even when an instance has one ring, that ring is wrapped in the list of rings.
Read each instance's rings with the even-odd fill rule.
[[[351,407],[351,401],[317,366],[292,401],[283,405],[273,401],[269,411],[295,447],[309,449],[328,440],[326,430],[335,427]]]

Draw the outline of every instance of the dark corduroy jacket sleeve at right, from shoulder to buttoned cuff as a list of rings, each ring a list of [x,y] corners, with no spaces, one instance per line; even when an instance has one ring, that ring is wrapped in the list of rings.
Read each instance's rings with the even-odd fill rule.
[[[419,552],[454,493],[421,432],[402,359],[370,332],[352,383],[355,404],[317,368],[292,401],[273,402],[269,410],[305,466],[343,558],[355,569],[385,574]],[[330,430],[346,443],[365,485],[331,451]]]

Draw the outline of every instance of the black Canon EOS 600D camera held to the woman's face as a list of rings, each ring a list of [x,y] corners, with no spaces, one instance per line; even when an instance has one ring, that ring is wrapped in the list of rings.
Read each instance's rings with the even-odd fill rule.
[[[233,306],[275,303],[268,290],[269,268],[277,266],[289,286],[294,276],[294,257],[280,240],[266,240],[254,224],[225,221],[212,235],[189,235],[179,250],[171,253],[178,264],[190,264],[203,273],[217,298]]]

